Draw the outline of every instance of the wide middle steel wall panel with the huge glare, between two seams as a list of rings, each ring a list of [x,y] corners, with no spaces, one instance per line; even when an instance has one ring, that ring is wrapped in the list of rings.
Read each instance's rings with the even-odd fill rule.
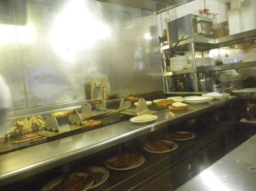
[[[26,13],[17,36],[28,108],[85,100],[92,77],[111,94],[101,2],[27,1]]]

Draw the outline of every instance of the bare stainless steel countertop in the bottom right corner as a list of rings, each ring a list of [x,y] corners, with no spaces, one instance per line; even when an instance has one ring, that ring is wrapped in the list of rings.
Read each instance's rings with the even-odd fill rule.
[[[176,191],[255,191],[256,135]]]

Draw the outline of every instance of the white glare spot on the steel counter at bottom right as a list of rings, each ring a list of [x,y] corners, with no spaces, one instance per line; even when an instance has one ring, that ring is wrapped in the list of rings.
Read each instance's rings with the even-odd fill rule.
[[[212,191],[229,191],[224,185],[215,177],[215,175],[209,170],[204,170],[200,173],[205,185]]]

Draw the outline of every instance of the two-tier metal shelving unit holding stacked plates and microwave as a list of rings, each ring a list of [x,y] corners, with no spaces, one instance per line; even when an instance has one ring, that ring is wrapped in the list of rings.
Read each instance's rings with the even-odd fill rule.
[[[167,71],[163,69],[163,79],[164,79],[164,92],[169,92],[168,89],[168,81],[165,79],[167,76],[177,75],[177,74],[185,74],[185,73],[192,73],[194,84],[195,84],[195,91],[198,92],[198,82],[197,82],[197,72],[207,72],[207,71],[219,71],[219,70],[230,70],[236,68],[249,68],[255,67],[256,61],[251,62],[238,62],[238,63],[231,63],[225,64],[222,66],[208,66],[208,67],[196,67],[195,64],[195,52],[203,52],[206,50],[212,50],[216,48],[222,48],[226,46],[232,46],[236,44],[241,44],[243,42],[253,41],[256,40],[256,29],[241,32],[238,34],[233,34],[227,37],[222,37],[218,39],[211,39],[211,38],[204,38],[204,37],[192,37],[190,39],[186,39],[180,41],[178,44],[177,42],[168,44],[160,48],[161,51],[192,51],[193,60],[194,60],[194,67],[184,70],[176,70],[176,71]],[[165,68],[166,62],[164,61]]]

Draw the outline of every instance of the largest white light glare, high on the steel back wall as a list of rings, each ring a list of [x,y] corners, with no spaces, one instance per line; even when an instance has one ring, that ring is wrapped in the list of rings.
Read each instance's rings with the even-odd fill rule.
[[[98,39],[105,39],[111,31],[97,19],[86,1],[70,1],[56,17],[51,31],[53,49],[63,59],[88,49]],[[67,52],[68,50],[68,52]],[[66,57],[66,58],[65,58]]]

